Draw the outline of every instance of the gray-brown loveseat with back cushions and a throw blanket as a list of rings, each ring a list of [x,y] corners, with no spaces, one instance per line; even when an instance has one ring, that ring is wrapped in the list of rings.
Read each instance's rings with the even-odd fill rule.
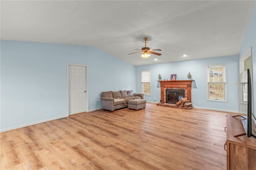
[[[116,109],[128,107],[128,101],[132,99],[144,99],[143,93],[133,93],[132,90],[103,91],[100,97],[103,110],[114,112]]]

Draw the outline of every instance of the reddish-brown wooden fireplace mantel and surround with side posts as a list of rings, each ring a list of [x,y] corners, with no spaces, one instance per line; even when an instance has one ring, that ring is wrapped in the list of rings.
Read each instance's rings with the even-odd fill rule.
[[[187,90],[187,98],[191,101],[191,86],[194,80],[170,80],[159,81],[161,87],[161,100],[164,102],[164,93],[166,88],[180,88]],[[191,101],[192,102],[192,101]]]

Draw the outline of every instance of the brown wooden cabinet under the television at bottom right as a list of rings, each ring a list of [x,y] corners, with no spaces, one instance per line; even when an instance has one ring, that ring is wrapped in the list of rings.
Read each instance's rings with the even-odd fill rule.
[[[227,170],[256,170],[256,138],[235,135],[245,132],[240,116],[227,115]]]

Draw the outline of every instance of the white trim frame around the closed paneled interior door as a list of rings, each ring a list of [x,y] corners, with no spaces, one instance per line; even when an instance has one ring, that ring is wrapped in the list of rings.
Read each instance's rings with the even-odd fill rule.
[[[69,103],[69,67],[71,66],[71,65],[74,65],[74,66],[82,66],[82,67],[85,67],[85,79],[86,79],[86,103],[85,103],[85,105],[86,105],[86,112],[88,112],[89,111],[89,73],[88,73],[88,65],[84,65],[84,64],[75,64],[75,63],[67,63],[67,117],[69,116],[69,105],[70,105],[70,103]]]

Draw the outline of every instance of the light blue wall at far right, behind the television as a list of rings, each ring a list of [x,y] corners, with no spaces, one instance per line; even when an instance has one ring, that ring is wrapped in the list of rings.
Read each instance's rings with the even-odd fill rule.
[[[252,12],[252,16],[250,18],[249,25],[246,30],[246,34],[244,36],[244,41],[242,43],[242,47],[240,50],[240,58],[244,55],[244,53],[252,47],[252,91],[253,91],[253,108],[255,113],[256,108],[256,4],[254,6],[254,10]]]

